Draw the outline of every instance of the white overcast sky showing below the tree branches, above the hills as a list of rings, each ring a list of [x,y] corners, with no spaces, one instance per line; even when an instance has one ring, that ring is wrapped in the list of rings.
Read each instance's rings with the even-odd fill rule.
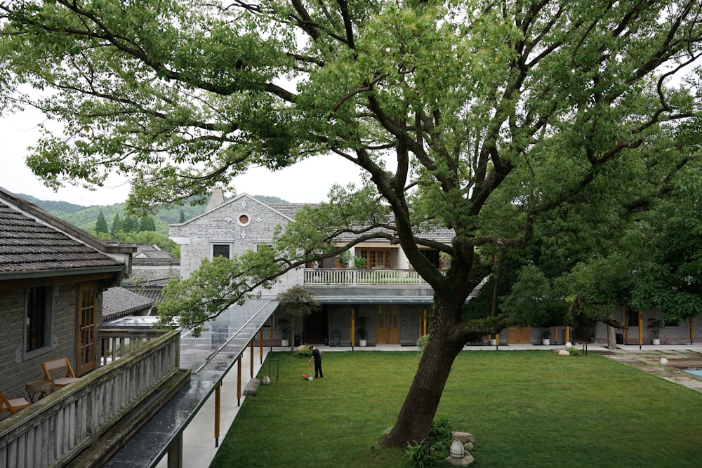
[[[44,187],[25,163],[27,147],[39,138],[37,124],[43,116],[27,111],[0,118],[0,187],[42,200],[68,201],[83,206],[111,205],[126,200],[128,181],[112,178],[106,187],[91,192],[80,187],[67,186],[58,192]],[[340,156],[318,156],[290,168],[271,173],[264,168],[253,168],[246,175],[234,179],[238,194],[278,196],[293,203],[317,203],[326,200],[333,183],[359,183],[359,171]]]

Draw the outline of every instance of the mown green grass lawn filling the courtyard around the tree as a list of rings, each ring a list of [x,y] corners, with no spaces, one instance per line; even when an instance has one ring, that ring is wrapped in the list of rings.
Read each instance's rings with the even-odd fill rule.
[[[212,467],[410,467],[377,443],[416,352],[326,352],[311,382],[307,359],[271,358],[280,380],[244,401]],[[476,468],[702,466],[702,394],[592,353],[463,352],[437,415],[475,435]]]

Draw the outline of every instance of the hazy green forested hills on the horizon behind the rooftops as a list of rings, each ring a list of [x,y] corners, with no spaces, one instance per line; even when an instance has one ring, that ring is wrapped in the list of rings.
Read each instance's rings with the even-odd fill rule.
[[[72,225],[83,229],[86,232],[95,230],[95,222],[98,221],[100,211],[105,216],[107,226],[112,227],[114,215],[119,214],[119,217],[124,222],[124,206],[125,203],[114,203],[114,205],[93,205],[82,206],[67,201],[49,201],[40,200],[37,197],[27,194],[17,194],[23,199],[34,203],[43,208],[49,213],[58,216]],[[262,201],[263,203],[288,203],[277,196],[254,195],[253,198]],[[180,222],[180,213],[183,212],[183,219],[190,220],[197,215],[201,215],[207,203],[202,203],[196,206],[182,206],[180,208],[161,208],[153,215],[156,232],[161,235],[168,236],[168,225]]]

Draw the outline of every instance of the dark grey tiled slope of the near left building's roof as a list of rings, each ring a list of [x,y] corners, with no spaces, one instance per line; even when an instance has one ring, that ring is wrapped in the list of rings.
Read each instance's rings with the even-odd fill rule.
[[[0,198],[0,273],[121,266],[105,253],[30,218]]]

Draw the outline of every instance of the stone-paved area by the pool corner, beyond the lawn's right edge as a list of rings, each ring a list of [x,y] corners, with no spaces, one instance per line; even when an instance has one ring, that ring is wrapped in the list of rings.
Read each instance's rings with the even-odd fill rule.
[[[702,392],[702,377],[685,373],[685,368],[702,369],[702,352],[697,350],[644,350],[644,351],[604,351],[600,352],[609,359],[633,366],[644,372],[658,375],[665,380],[684,385]],[[661,366],[661,358],[668,359],[668,366]]]

